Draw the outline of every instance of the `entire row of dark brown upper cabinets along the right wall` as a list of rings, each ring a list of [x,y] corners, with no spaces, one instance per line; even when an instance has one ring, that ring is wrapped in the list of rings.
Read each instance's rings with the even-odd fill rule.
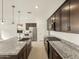
[[[79,33],[79,0],[66,0],[49,21],[50,30]]]

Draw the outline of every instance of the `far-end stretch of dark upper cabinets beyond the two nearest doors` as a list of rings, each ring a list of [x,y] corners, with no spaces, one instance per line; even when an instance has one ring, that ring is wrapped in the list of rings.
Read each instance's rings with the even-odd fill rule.
[[[61,30],[61,15],[60,10],[54,13],[48,20],[47,20],[47,28],[48,30]]]

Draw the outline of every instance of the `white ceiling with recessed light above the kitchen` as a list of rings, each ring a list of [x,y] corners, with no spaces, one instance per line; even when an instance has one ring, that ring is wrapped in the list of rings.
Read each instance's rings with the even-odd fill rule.
[[[1,19],[1,1],[0,0],[0,19]],[[12,5],[15,5],[15,18],[18,18],[18,10],[21,11],[21,17],[36,17],[47,19],[65,0],[4,0],[4,18],[12,19]],[[36,9],[35,6],[39,8]],[[27,12],[32,12],[29,15]]]

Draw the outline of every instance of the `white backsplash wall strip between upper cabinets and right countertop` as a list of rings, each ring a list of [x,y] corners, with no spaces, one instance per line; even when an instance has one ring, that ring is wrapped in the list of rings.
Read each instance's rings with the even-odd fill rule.
[[[50,36],[55,36],[79,45],[79,34],[50,31]]]

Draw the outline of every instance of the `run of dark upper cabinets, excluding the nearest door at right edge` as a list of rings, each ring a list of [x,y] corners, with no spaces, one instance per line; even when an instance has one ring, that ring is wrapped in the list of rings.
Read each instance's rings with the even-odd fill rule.
[[[53,18],[51,21],[50,18]],[[70,31],[70,0],[66,1],[56,12],[49,18],[50,22],[53,22],[52,25],[48,25],[52,27],[55,31]]]

